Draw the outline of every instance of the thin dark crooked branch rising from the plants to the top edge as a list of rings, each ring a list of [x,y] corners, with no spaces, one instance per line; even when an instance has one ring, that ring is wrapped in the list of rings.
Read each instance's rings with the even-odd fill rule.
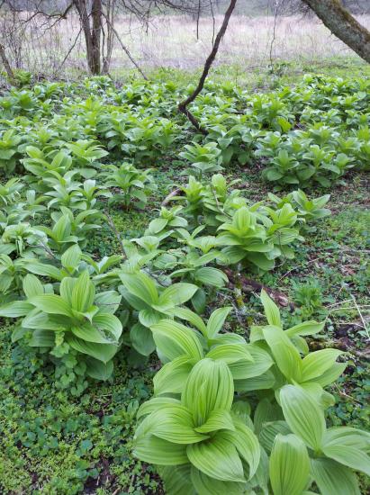
[[[177,106],[179,112],[184,113],[185,117],[187,117],[187,119],[189,119],[189,121],[192,122],[192,124],[194,125],[194,128],[196,130],[199,130],[200,132],[202,132],[202,134],[204,136],[206,136],[208,134],[208,131],[205,130],[200,125],[199,121],[197,121],[197,119],[194,117],[193,113],[190,112],[190,110],[188,110],[186,107],[187,107],[188,104],[194,102],[195,98],[203,90],[205,79],[208,76],[208,73],[210,71],[210,68],[212,67],[212,63],[213,63],[214,59],[216,58],[217,52],[218,52],[219,47],[220,47],[221,40],[222,40],[222,38],[223,38],[226,30],[227,30],[227,27],[228,27],[228,24],[229,24],[229,21],[230,21],[231,14],[232,14],[232,12],[233,12],[233,10],[235,8],[235,4],[236,3],[237,3],[237,0],[231,0],[230,1],[230,5],[228,7],[228,10],[225,13],[225,16],[223,18],[223,22],[221,24],[220,31],[217,33],[216,39],[214,40],[214,44],[213,44],[213,47],[212,47],[212,51],[211,51],[210,55],[208,56],[208,58],[205,61],[205,64],[204,64],[204,67],[203,67],[202,76],[200,77],[199,83],[196,86],[196,88],[194,89],[194,92],[192,94],[190,94],[190,96],[188,96],[184,100],[184,102],[178,103],[178,106]]]

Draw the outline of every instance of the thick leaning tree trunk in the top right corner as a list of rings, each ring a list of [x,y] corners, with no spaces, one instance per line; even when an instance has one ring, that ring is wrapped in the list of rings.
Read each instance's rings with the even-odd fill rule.
[[[349,14],[339,0],[302,0],[329,30],[370,63],[370,31]]]

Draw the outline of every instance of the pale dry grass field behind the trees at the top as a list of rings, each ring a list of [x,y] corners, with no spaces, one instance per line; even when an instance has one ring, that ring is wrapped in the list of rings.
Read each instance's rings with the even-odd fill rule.
[[[221,23],[216,17],[216,31]],[[360,22],[370,26],[370,16],[361,16]],[[120,16],[116,29],[123,43],[142,67],[196,68],[203,65],[211,49],[212,19],[203,18],[200,23],[200,39],[196,40],[196,24],[184,16],[154,18],[149,29],[136,21]],[[15,67],[46,75],[86,71],[83,37],[77,40],[67,61],[68,53],[78,33],[77,19],[70,17],[51,31],[33,25],[20,40],[22,56],[16,60],[9,50]],[[235,16],[222,40],[217,63],[238,64],[241,67],[266,67],[270,62],[274,18]],[[276,20],[275,40],[272,49],[274,60],[316,62],[328,58],[353,56],[354,53],[334,37],[319,21],[301,17],[279,17]],[[14,58],[12,60],[12,58]],[[115,40],[112,69],[116,73],[131,68],[131,61]]]

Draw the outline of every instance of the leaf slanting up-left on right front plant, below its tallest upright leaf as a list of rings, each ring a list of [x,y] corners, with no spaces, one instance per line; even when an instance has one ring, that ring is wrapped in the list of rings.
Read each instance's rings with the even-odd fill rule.
[[[302,381],[302,359],[290,339],[286,337],[284,330],[267,326],[263,329],[263,333],[279,370],[288,380],[300,383]]]

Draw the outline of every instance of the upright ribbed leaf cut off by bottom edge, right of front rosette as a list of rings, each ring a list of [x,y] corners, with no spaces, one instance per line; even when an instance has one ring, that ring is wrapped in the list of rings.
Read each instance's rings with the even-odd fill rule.
[[[270,456],[270,482],[274,495],[302,495],[310,479],[310,458],[295,435],[277,435]]]

